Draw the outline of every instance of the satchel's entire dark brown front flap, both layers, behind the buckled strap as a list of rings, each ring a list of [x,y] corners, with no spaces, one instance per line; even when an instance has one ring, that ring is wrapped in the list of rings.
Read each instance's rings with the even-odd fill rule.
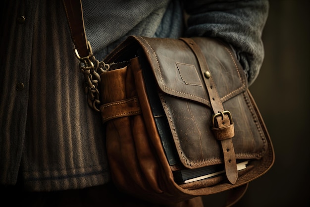
[[[211,75],[225,110],[232,114],[232,138],[237,159],[260,159],[267,151],[264,125],[249,99],[245,73],[232,50],[219,41],[193,38],[204,53],[210,74],[205,74],[195,54],[181,40],[129,37],[104,60],[133,58],[142,48],[160,89],[160,99],[177,154],[187,168],[223,163],[218,140],[211,131],[210,99],[204,76]]]

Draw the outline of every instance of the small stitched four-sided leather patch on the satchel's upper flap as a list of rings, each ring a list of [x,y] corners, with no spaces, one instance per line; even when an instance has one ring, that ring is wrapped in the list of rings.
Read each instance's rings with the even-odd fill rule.
[[[186,85],[202,86],[194,65],[176,62],[180,76]]]

